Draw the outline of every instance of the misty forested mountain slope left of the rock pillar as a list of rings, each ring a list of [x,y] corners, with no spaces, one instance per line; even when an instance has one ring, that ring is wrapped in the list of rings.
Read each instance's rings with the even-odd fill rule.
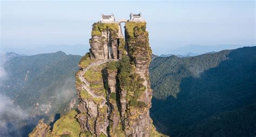
[[[26,136],[39,118],[50,123],[76,106],[80,58],[56,52],[7,60],[0,84],[0,136]]]

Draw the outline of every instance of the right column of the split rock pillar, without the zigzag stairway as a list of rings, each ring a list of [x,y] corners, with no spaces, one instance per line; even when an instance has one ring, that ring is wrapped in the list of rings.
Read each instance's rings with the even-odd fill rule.
[[[122,92],[127,92],[126,102],[128,102],[124,116],[126,117],[125,133],[133,136],[149,136],[152,130],[149,116],[152,98],[149,82],[151,49],[146,23],[127,22],[125,37],[132,68],[130,87],[126,90],[126,85],[121,84]]]

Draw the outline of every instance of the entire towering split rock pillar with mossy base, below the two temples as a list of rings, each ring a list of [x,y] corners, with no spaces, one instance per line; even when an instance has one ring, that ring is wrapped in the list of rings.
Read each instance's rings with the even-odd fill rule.
[[[149,113],[152,52],[146,22],[98,22],[91,36],[90,52],[76,73],[77,110],[60,117],[52,129],[40,121],[29,136],[165,136]]]

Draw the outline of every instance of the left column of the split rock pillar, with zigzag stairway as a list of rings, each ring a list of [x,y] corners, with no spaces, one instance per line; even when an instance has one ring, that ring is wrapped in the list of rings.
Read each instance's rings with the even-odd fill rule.
[[[106,64],[119,59],[118,25],[93,24],[90,53],[79,63],[77,90],[80,97],[77,119],[82,134],[107,135],[110,109],[107,105],[107,81],[114,86],[115,76],[108,78]]]

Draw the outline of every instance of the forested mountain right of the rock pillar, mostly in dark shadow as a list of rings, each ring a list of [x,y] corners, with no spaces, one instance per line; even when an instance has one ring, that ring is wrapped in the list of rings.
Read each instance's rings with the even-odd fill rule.
[[[151,62],[151,117],[171,136],[256,135],[256,47]]]

